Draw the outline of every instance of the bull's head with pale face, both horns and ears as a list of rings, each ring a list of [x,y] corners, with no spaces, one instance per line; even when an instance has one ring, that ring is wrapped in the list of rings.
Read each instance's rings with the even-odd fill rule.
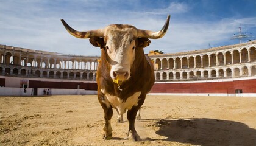
[[[107,54],[110,64],[110,77],[113,80],[124,81],[130,78],[130,68],[135,60],[135,49],[149,45],[148,38],[162,38],[169,26],[170,16],[166,19],[165,26],[158,31],[137,29],[129,25],[110,25],[105,29],[79,32],[72,29],[63,19],[61,20],[68,32],[77,38],[90,38],[93,46],[101,47]],[[139,42],[142,40],[144,42]]]

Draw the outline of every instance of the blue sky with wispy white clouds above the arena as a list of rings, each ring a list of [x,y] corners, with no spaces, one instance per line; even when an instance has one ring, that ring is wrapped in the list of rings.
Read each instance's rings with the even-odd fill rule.
[[[74,55],[100,55],[88,40],[74,38],[60,19],[76,30],[132,24],[158,31],[171,15],[163,38],[144,49],[165,53],[239,43],[230,40],[241,27],[256,38],[255,0],[0,0],[0,44]],[[243,40],[246,41],[246,40]]]

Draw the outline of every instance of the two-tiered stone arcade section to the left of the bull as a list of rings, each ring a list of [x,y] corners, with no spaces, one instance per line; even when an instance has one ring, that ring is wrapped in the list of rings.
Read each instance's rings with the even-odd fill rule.
[[[63,55],[0,45],[0,74],[16,77],[95,80],[99,57]]]

